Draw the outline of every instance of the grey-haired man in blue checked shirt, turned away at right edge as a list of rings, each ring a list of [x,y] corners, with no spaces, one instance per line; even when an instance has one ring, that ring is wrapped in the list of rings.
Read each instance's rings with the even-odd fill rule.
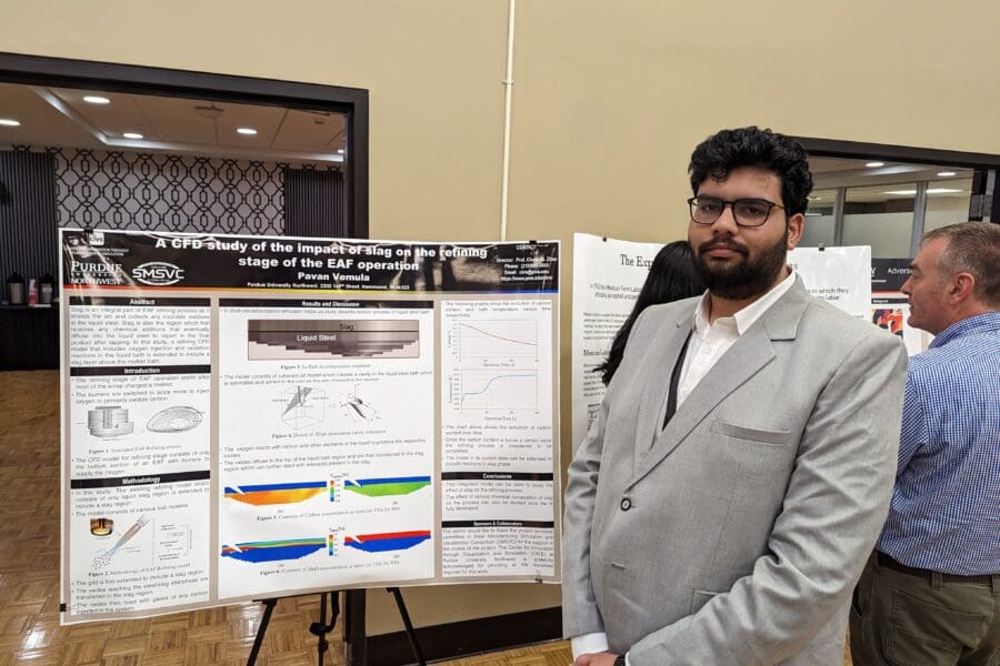
[[[889,519],[851,605],[856,666],[1000,664],[1000,224],[927,233]]]

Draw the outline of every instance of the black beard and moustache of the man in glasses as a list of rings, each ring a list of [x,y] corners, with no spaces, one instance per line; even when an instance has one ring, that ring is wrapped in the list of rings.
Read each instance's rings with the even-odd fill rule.
[[[737,263],[712,262],[707,253],[712,246],[724,246],[737,252],[741,260]],[[756,261],[748,260],[750,251],[732,239],[719,238],[698,246],[694,268],[712,295],[730,301],[743,301],[770,291],[784,268],[788,248],[788,228],[784,234],[770,248],[764,248]]]

